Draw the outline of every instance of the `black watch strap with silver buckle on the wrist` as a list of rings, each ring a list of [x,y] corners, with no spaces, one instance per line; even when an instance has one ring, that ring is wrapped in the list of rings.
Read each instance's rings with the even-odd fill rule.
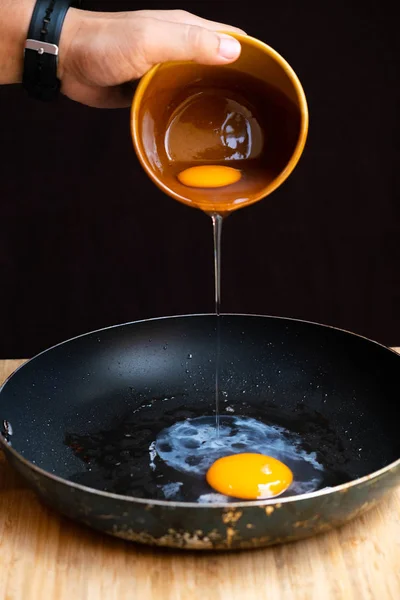
[[[73,0],[37,0],[25,42],[22,84],[30,96],[54,100],[61,87],[57,77],[58,44],[65,15]]]

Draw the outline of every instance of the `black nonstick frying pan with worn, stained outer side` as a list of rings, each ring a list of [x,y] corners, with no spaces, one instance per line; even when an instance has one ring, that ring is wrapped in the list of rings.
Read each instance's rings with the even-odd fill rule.
[[[216,317],[194,315],[103,329],[43,352],[1,389],[8,459],[61,513],[181,548],[305,537],[398,484],[400,356],[313,323],[224,315],[220,390],[229,410],[301,436],[324,464],[327,489],[251,502],[162,499],[143,448],[173,421],[214,414],[215,342]]]

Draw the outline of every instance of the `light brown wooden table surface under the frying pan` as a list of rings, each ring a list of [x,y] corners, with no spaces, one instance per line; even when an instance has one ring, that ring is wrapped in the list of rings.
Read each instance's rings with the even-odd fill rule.
[[[400,349],[399,349],[400,351]],[[0,383],[23,361],[0,361]],[[348,525],[199,554],[114,539],[45,508],[0,452],[0,600],[399,600],[400,488]]]

